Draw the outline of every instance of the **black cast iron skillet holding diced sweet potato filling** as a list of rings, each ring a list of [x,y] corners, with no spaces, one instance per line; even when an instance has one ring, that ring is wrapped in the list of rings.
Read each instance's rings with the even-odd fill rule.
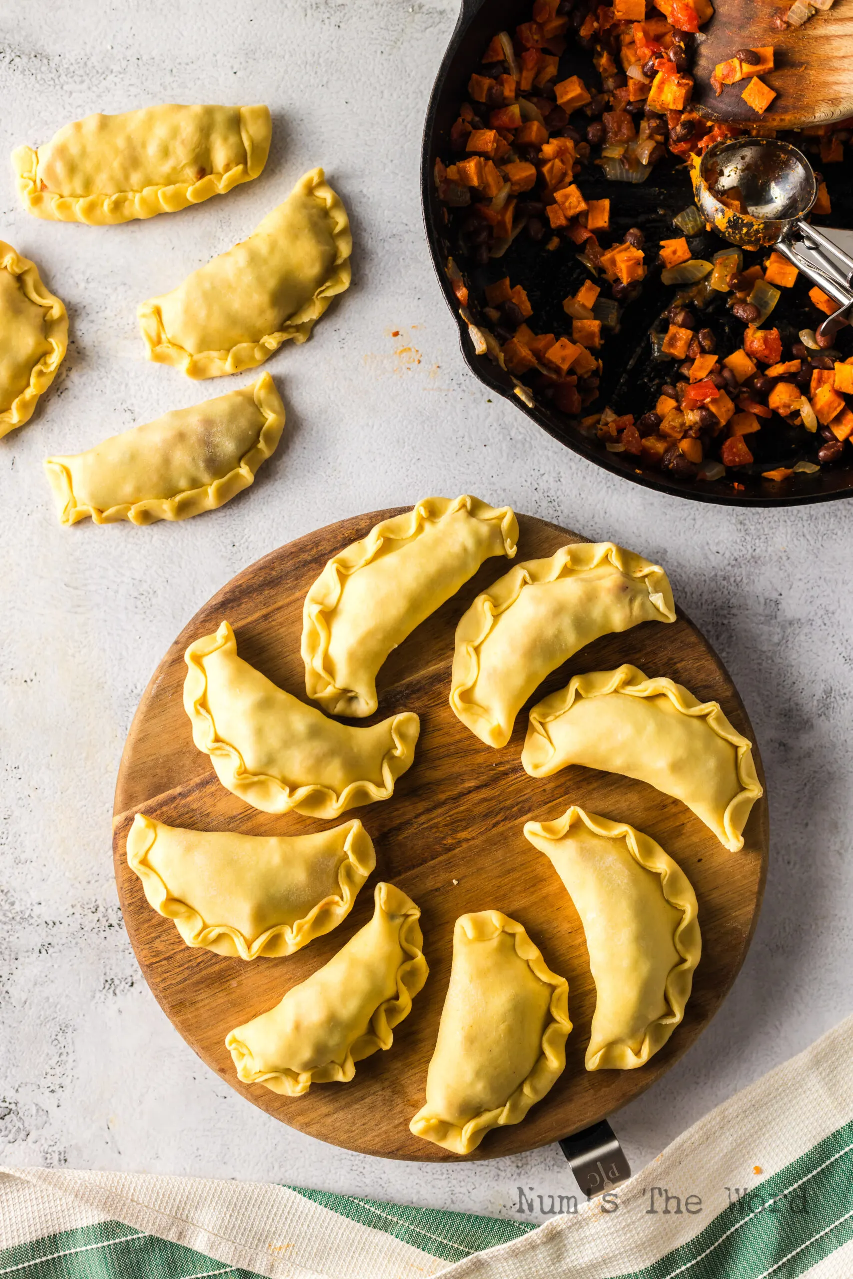
[[[737,473],[729,471],[724,478],[714,482],[697,480],[685,483],[670,477],[668,472],[639,471],[638,459],[629,458],[628,454],[607,453],[595,436],[584,435],[546,400],[537,403],[531,393],[531,403],[524,403],[517,394],[515,382],[509,373],[489,356],[474,353],[468,325],[459,313],[459,303],[448,280],[448,257],[453,256],[466,279],[474,284],[472,303],[474,295],[481,293],[482,285],[491,279],[509,274],[514,283],[523,281],[535,307],[537,330],[545,333],[564,331],[565,315],[561,299],[579,288],[587,278],[584,267],[577,262],[574,253],[568,252],[565,247],[555,253],[544,252],[542,244],[535,244],[524,233],[513,242],[505,257],[486,267],[469,269],[464,258],[460,258],[457,246],[449,239],[451,231],[445,225],[445,210],[436,196],[435,161],[436,157],[446,160],[449,155],[450,125],[459,114],[459,104],[467,97],[471,73],[478,68],[482,51],[495,32],[514,31],[519,22],[529,17],[529,8],[531,0],[462,0],[459,20],[441,61],[423,127],[421,198],[427,242],[439,283],[459,326],[462,353],[468,367],[491,391],[504,395],[569,449],[614,475],[647,489],[656,489],[659,492],[729,506],[792,506],[853,495],[853,462],[845,466],[822,467],[813,476],[797,473],[784,487],[762,480],[761,471],[774,466],[790,466],[801,455],[797,451],[795,434],[792,431],[792,436],[785,439],[784,430],[775,432],[771,443],[772,453],[765,450],[765,455],[756,457],[753,473],[743,468]],[[569,43],[560,60],[560,78],[575,73],[588,75],[590,65],[590,56]],[[843,173],[835,175],[833,170],[847,171],[847,165],[827,165],[825,170],[833,196],[831,223],[834,226],[853,226],[853,184],[844,182]],[[692,201],[687,170],[665,164],[659,165],[641,185],[609,183],[604,177],[596,178],[586,170],[583,189],[591,198],[601,196],[611,198],[611,224],[615,231],[624,233],[628,226],[638,225],[650,242],[677,234],[671,217]],[[707,251],[700,249],[700,253],[710,256],[723,244],[724,242],[716,235],[711,235]],[[696,242],[692,247],[696,252]],[[650,329],[660,324],[660,315],[671,299],[673,288],[660,283],[657,270],[650,270],[641,297],[623,315],[622,331],[610,336],[605,344],[601,399],[595,408],[609,403],[615,412],[636,412],[638,400],[647,405],[655,384],[671,376],[674,367],[671,362],[652,365],[648,341]],[[476,304],[472,311],[476,318]],[[774,312],[774,320],[778,312],[780,320],[795,327],[812,327],[815,324],[813,310],[799,311],[786,297]],[[716,320],[717,330],[725,329],[725,315],[717,315]],[[730,349],[740,345],[742,330],[742,325],[733,324]],[[850,344],[852,334],[853,330],[848,329],[839,339],[844,354],[849,354],[844,347]],[[848,453],[848,457],[853,458],[853,454]],[[734,487],[735,483],[739,485],[738,489]]]

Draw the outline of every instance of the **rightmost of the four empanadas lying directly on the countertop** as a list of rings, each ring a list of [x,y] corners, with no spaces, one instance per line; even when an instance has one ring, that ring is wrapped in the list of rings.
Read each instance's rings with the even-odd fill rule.
[[[349,288],[352,249],[347,210],[312,169],[248,239],[142,303],[148,359],[221,377],[262,365],[288,338],[306,341]]]

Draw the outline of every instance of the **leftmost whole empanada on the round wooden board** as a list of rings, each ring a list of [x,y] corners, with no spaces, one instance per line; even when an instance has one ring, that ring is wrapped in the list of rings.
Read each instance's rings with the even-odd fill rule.
[[[289,955],[345,920],[376,866],[357,819],[312,835],[183,830],[138,812],[128,865],[188,946]]]

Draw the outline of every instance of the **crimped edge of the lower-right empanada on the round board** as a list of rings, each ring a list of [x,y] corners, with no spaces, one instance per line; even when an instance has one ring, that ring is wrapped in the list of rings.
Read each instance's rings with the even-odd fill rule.
[[[693,972],[702,957],[696,893],[678,862],[673,861],[651,835],[643,834],[642,830],[637,830],[636,826],[630,826],[625,821],[610,821],[607,817],[588,813],[578,804],[572,804],[561,817],[556,817],[554,821],[526,822],[524,836],[531,843],[533,843],[531,834],[538,835],[540,839],[563,839],[577,819],[595,835],[604,835],[605,839],[614,840],[624,839],[634,861],[645,870],[660,875],[660,886],[665,900],[674,909],[682,912],[682,922],[673,935],[673,943],[682,957],[682,963],[669,971],[664,986],[664,996],[670,1008],[669,1014],[657,1017],[648,1023],[639,1053],[634,1053],[630,1045],[624,1041],[606,1044],[592,1055],[587,1048],[584,1060],[587,1071],[633,1071],[645,1065],[664,1046],[684,1018],[684,1008],[693,989]],[[547,857],[547,853],[545,856]]]

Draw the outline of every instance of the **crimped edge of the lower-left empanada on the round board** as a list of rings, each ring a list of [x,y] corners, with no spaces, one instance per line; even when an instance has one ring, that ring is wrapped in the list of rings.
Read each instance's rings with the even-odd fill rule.
[[[244,1069],[248,1058],[246,1046],[230,1031],[225,1046],[231,1054],[238,1077],[243,1083],[263,1083],[271,1092],[286,1097],[302,1097],[312,1083],[349,1083],[356,1074],[356,1062],[363,1062],[380,1049],[387,1050],[394,1042],[394,1030],[412,1012],[412,1000],[423,989],[430,976],[430,968],[423,954],[423,934],[418,920],[421,908],[395,884],[376,885],[375,900],[385,914],[404,916],[400,923],[399,941],[405,958],[396,969],[396,995],[382,1003],[373,1012],[368,1030],[353,1040],[343,1062],[329,1062],[315,1071],[297,1074],[294,1071],[270,1071],[252,1076]],[[242,1058],[238,1062],[238,1058]]]

